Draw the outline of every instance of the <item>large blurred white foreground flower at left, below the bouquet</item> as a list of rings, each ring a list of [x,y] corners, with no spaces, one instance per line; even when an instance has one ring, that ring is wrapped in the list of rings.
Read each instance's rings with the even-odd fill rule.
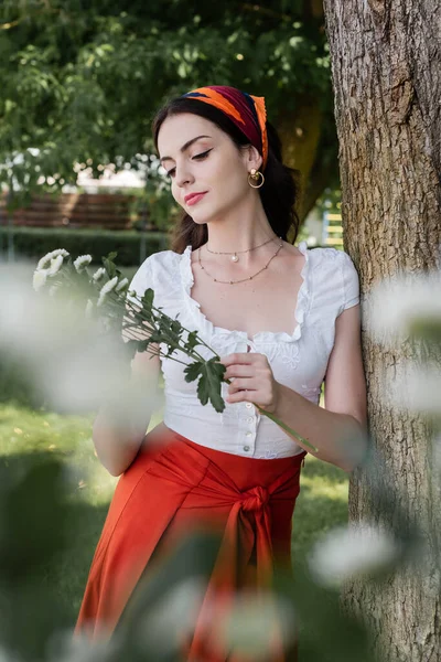
[[[20,361],[51,406],[88,413],[110,398],[121,425],[128,414],[142,419],[157,392],[139,378],[121,392],[130,361],[121,339],[103,334],[100,321],[86,317],[86,297],[41,296],[31,287],[29,266],[7,265],[0,266],[0,351]]]

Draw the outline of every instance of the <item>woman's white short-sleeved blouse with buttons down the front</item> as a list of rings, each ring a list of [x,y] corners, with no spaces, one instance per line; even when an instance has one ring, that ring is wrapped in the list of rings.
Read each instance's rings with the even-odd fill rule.
[[[192,299],[192,247],[183,254],[161,250],[150,255],[136,273],[129,290],[142,296],[147,288],[154,290],[153,305],[172,318],[179,314],[181,323],[198,335],[219,356],[233,352],[251,351],[265,354],[275,378],[318,404],[327,361],[334,344],[335,320],[345,310],[359,302],[357,271],[351,257],[336,248],[298,246],[305,263],[301,271],[302,285],[298,295],[292,334],[261,331],[251,340],[245,331],[214,327]],[[186,339],[186,334],[185,334]],[[205,359],[213,356],[204,345],[196,348]],[[161,351],[166,345],[161,344]],[[175,356],[185,363],[191,360],[181,351]],[[276,423],[260,415],[251,403],[225,403],[218,414],[208,402],[197,398],[197,381],[187,383],[184,366],[161,357],[164,377],[164,424],[187,439],[202,446],[250,458],[283,458],[303,449]],[[222,396],[228,384],[222,384]]]

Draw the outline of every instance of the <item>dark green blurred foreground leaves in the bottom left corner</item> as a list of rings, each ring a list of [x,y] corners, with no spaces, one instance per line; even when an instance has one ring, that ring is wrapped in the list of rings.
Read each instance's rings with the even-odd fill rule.
[[[76,530],[63,465],[50,452],[0,458],[0,641],[23,660],[69,626],[69,610],[47,578]]]

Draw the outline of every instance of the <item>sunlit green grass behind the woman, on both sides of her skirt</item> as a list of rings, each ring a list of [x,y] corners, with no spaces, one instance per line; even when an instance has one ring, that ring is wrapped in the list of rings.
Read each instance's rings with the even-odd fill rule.
[[[158,412],[149,429],[161,420]],[[50,581],[67,605],[73,622],[78,612],[88,568],[117,478],[99,463],[92,441],[93,417],[62,416],[0,403],[0,461],[53,453],[66,463],[69,495],[77,504],[80,528],[75,543],[52,568]],[[292,548],[295,560],[330,527],[347,520],[347,474],[306,456],[295,505]]]

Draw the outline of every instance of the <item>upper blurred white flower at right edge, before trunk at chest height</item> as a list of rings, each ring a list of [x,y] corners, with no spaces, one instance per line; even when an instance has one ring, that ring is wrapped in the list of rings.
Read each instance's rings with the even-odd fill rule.
[[[416,322],[441,321],[441,274],[402,274],[376,285],[366,299],[367,331],[381,344],[396,344]]]

